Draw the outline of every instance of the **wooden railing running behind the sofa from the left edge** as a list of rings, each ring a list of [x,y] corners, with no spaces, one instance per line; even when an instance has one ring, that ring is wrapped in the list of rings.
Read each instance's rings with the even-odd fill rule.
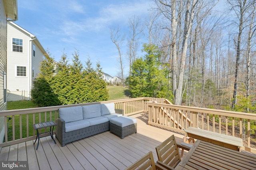
[[[36,139],[32,124],[45,121],[55,121],[58,118],[58,109],[63,107],[115,103],[116,109],[124,109],[124,115],[132,115],[141,112],[148,112],[148,104],[146,102],[152,100],[157,101],[158,103],[168,103],[167,100],[160,98],[132,98],[85,104],[0,111],[0,117],[4,117],[5,131],[4,143],[0,143],[0,147]],[[46,132],[46,130],[47,129],[42,129],[42,132]]]

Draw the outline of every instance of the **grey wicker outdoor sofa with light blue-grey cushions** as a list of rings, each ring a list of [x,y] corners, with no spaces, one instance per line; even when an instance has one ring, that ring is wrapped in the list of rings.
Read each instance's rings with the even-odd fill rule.
[[[60,108],[56,138],[64,147],[66,143],[109,131],[110,119],[123,114],[123,109],[115,109],[114,103]]]

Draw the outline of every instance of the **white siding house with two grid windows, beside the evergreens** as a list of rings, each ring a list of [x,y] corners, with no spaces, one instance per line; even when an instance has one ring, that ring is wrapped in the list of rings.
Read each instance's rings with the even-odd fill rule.
[[[35,35],[19,25],[7,24],[7,101],[30,100],[34,78],[46,51]]]

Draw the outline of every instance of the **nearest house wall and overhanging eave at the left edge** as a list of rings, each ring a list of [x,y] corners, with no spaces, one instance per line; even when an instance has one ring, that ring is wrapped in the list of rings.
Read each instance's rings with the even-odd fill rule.
[[[7,109],[7,21],[18,20],[17,0],[0,0],[0,110]],[[0,117],[0,143],[4,140],[4,117]]]

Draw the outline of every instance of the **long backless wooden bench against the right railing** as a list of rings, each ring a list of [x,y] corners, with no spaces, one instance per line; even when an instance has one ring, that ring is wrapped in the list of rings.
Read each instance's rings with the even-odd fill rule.
[[[240,151],[241,147],[243,147],[243,140],[238,137],[210,132],[195,127],[188,127],[185,132],[184,143],[189,143],[191,140],[194,142],[194,139],[199,139],[201,141],[206,141],[215,145],[238,151]],[[187,136],[190,137],[190,139],[187,140]]]

